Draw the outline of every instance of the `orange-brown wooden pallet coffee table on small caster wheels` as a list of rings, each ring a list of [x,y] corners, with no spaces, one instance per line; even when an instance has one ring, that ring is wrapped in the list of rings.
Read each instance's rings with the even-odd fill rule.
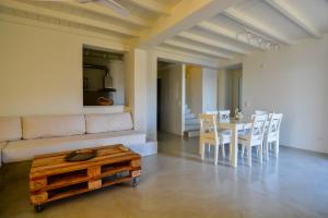
[[[97,157],[68,162],[70,152],[36,156],[30,172],[31,202],[36,211],[45,203],[132,180],[137,186],[141,156],[122,145],[95,148]]]

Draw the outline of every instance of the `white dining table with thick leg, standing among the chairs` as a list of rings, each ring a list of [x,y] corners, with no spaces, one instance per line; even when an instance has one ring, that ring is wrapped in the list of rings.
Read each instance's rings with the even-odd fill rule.
[[[238,132],[251,128],[253,121],[250,118],[231,118],[218,121],[219,129],[231,130],[231,150],[230,150],[230,166],[237,167],[238,165]]]

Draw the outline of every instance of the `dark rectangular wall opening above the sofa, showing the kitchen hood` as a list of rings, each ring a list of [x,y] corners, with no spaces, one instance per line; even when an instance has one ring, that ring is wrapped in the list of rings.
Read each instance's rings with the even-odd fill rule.
[[[125,105],[124,55],[83,47],[83,106]]]

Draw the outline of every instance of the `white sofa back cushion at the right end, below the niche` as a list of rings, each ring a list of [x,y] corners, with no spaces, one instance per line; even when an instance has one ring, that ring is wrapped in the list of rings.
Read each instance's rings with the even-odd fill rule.
[[[86,133],[104,133],[133,129],[129,112],[85,114],[85,123]]]

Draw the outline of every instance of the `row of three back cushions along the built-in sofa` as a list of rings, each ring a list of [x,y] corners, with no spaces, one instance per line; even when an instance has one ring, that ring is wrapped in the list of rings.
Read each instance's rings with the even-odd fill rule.
[[[133,121],[129,112],[85,116],[31,116],[22,119],[19,117],[0,117],[0,142],[132,129]]]

